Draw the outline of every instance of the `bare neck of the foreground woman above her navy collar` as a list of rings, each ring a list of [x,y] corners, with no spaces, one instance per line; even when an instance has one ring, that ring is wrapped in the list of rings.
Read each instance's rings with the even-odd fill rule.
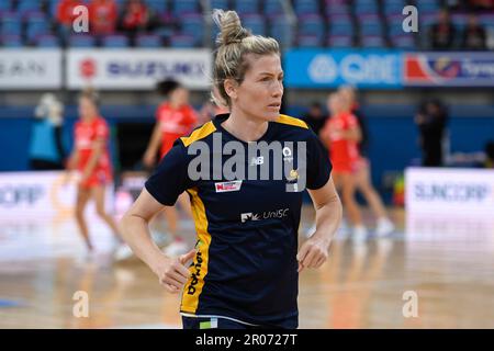
[[[269,123],[265,120],[243,116],[238,112],[232,111],[222,126],[237,139],[248,143],[259,140],[268,131]]]

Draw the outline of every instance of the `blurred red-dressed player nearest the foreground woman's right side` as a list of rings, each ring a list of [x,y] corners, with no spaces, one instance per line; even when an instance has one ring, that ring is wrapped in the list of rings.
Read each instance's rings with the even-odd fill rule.
[[[339,93],[328,98],[328,110],[332,116],[326,122],[321,138],[329,150],[333,165],[333,179],[336,188],[341,192],[344,206],[348,211],[348,219],[353,226],[352,237],[361,241],[367,237],[367,229],[362,225],[362,216],[355,200],[356,181],[355,169],[359,160],[357,144],[361,133],[357,118],[348,111],[348,104]]]

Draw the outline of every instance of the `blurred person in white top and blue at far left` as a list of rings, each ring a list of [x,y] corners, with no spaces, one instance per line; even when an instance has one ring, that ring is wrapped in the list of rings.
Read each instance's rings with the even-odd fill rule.
[[[63,146],[64,105],[54,94],[46,93],[34,111],[31,132],[30,168],[61,170],[66,152]]]

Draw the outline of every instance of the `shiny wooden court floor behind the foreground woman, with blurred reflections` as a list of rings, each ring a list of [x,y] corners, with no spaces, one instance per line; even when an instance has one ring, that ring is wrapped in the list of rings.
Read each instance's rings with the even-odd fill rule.
[[[301,231],[312,216],[304,207]],[[329,260],[301,274],[300,328],[494,328],[494,219],[392,217],[390,238],[353,244],[341,231]],[[181,327],[179,296],[141,262],[113,262],[99,220],[91,233],[99,253],[88,259],[72,220],[0,219],[0,328]],[[88,317],[74,316],[78,291]]]

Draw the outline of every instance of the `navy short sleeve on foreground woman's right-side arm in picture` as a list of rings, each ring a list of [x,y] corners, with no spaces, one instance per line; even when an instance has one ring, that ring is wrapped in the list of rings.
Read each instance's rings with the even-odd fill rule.
[[[324,186],[332,173],[329,155],[319,138],[310,131],[307,140],[307,189],[316,190]]]

